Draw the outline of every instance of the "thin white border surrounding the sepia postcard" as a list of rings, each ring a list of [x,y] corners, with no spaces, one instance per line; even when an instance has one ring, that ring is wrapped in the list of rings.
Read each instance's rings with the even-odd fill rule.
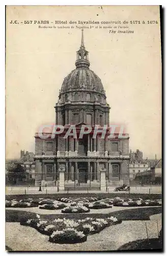
[[[121,0],[117,0],[117,1],[106,1],[106,0],[103,0],[103,1],[90,1],[90,0],[85,0],[85,1],[80,1],[78,3],[78,1],[68,1],[68,0],[61,0],[61,1],[55,1],[55,0],[47,0],[47,1],[38,1],[38,0],[25,0],[25,1],[12,1],[12,0],[2,0],[1,3],[0,3],[0,18],[1,18],[1,23],[0,23],[0,26],[1,26],[1,68],[0,68],[0,72],[1,72],[1,86],[0,86],[0,104],[1,104],[1,108],[0,108],[0,113],[1,113],[1,142],[0,142],[0,150],[1,150],[1,160],[0,160],[0,174],[1,174],[1,177],[0,177],[0,181],[1,181],[1,185],[0,185],[0,196],[1,196],[1,230],[5,230],[5,222],[4,222],[4,219],[5,219],[5,207],[4,207],[4,198],[5,198],[5,5],[162,5],[163,8],[166,7],[166,1],[161,1],[161,3],[159,3],[159,1],[144,1],[144,0],[141,0],[141,1],[121,1]],[[166,20],[165,20],[165,17],[164,17],[164,25],[166,25]],[[166,32],[166,28],[164,29],[164,41],[165,41],[165,32]],[[163,44],[163,48],[165,48],[166,45]],[[163,53],[165,56],[163,57],[163,61],[165,62],[166,60],[166,54],[165,52]],[[164,63],[163,63],[164,65]],[[165,85],[166,84],[163,84],[163,87],[165,88]],[[166,90],[164,90],[164,93],[165,93],[165,96],[164,96],[164,102],[166,100]],[[164,125],[166,124],[166,112],[167,112],[167,109],[166,109],[166,105],[164,105]],[[166,125],[165,125],[166,127]],[[164,129],[164,132],[165,132],[165,129]],[[166,137],[164,139],[164,145],[166,145],[167,141],[166,141]],[[164,151],[164,159],[166,159],[166,154],[165,151]],[[164,164],[163,164],[164,166]],[[165,169],[163,170],[163,177],[164,177],[164,172],[165,172]],[[167,176],[166,176],[167,177]],[[163,181],[164,184],[166,184],[166,179]],[[163,191],[164,194],[165,194],[165,191]],[[165,198],[165,197],[164,197]],[[164,204],[165,202],[163,202]],[[166,240],[166,239],[165,239]],[[1,232],[1,240],[0,240],[0,251],[2,253],[2,255],[4,255],[5,253],[5,233],[2,233]],[[165,247],[165,242],[166,241],[163,241],[164,243],[164,247]],[[142,251],[141,251],[142,252]],[[68,253],[68,252],[67,252]],[[65,253],[65,254],[67,254]],[[22,254],[22,253],[21,253]],[[33,253],[34,254],[34,253]],[[59,253],[57,253],[59,254]],[[99,254],[99,253],[98,253]],[[120,253],[117,253],[117,255],[119,255]],[[133,253],[132,253],[133,254]],[[146,252],[144,253],[146,254]],[[43,253],[41,254],[43,255]]]

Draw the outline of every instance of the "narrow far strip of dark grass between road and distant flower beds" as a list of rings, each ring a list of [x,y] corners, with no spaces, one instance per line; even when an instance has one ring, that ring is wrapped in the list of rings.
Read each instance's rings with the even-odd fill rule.
[[[27,198],[49,198],[49,199],[54,199],[57,200],[58,198],[62,198],[62,197],[72,197],[72,198],[78,198],[78,197],[96,197],[99,200],[100,199],[105,199],[105,198],[114,198],[114,197],[121,197],[121,198],[130,198],[130,199],[138,199],[138,198],[142,198],[144,200],[146,199],[151,199],[151,200],[155,200],[155,199],[161,199],[162,196],[161,194],[38,194],[38,195],[6,195],[6,200],[12,200],[12,199],[16,199],[16,200],[21,200],[21,199],[27,199]]]

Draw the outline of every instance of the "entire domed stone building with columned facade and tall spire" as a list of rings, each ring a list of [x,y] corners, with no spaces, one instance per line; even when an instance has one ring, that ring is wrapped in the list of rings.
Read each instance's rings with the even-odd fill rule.
[[[129,136],[109,138],[110,107],[101,79],[90,70],[83,30],[76,53],[76,69],[65,77],[54,106],[55,124],[63,125],[64,132],[45,139],[35,135],[36,184],[61,186],[61,169],[65,188],[100,188],[100,170],[105,170],[105,186],[129,184]],[[65,138],[71,125],[76,136]],[[91,132],[80,138],[82,125],[90,125]],[[101,130],[106,127],[104,139],[100,133],[93,136],[97,125]]]

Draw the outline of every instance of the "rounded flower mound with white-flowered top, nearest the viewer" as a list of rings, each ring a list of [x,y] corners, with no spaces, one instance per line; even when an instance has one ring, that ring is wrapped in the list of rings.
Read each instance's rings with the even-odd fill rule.
[[[87,241],[87,236],[74,228],[53,231],[49,237],[49,242],[57,244],[75,244]]]

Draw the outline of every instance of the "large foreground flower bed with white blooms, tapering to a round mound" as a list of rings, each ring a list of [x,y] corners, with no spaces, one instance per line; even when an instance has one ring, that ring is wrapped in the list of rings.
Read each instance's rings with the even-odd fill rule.
[[[115,217],[106,219],[85,218],[81,220],[74,219],[55,219],[40,220],[37,215],[36,219],[23,219],[20,225],[30,226],[37,229],[40,233],[49,236],[49,241],[53,243],[81,243],[87,240],[87,236],[98,233],[110,225],[121,223]]]

